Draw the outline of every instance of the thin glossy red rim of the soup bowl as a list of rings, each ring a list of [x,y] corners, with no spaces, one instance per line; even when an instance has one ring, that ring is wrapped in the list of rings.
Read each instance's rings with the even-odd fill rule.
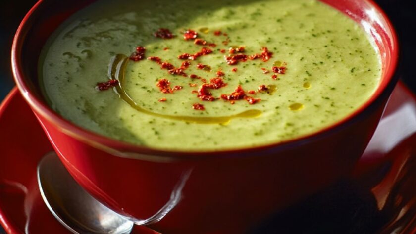
[[[287,148],[296,147],[302,144],[307,143],[308,141],[318,140],[322,137],[330,135],[336,131],[347,126],[349,123],[352,123],[359,119],[360,117],[365,116],[366,112],[374,106],[377,101],[381,99],[383,95],[389,95],[398,81],[398,66],[400,58],[400,45],[397,37],[396,30],[393,27],[387,14],[373,1],[373,0],[363,0],[371,5],[375,11],[380,14],[382,19],[386,23],[386,31],[391,32],[391,57],[390,57],[390,66],[386,70],[385,74],[381,77],[381,82],[377,87],[376,91],[371,95],[369,99],[366,100],[359,108],[354,112],[345,116],[341,120],[326,126],[325,128],[320,129],[319,131],[312,132],[311,134],[302,135],[295,139],[284,140],[279,142],[272,142],[264,145],[258,146],[246,146],[239,148],[226,148],[226,149],[217,149],[217,150],[176,150],[176,149],[161,149],[148,146],[136,145],[133,143],[123,142],[120,140],[115,140],[104,135],[94,133],[90,130],[84,129],[77,126],[76,124],[71,123],[70,121],[64,119],[55,111],[53,111],[44,101],[40,100],[35,94],[31,92],[30,86],[26,83],[26,78],[23,72],[23,65],[21,63],[21,50],[23,43],[25,41],[25,35],[30,29],[30,22],[33,21],[32,16],[35,12],[39,11],[39,8],[46,0],[39,0],[25,15],[21,21],[16,34],[13,39],[12,49],[11,49],[11,68],[14,80],[16,82],[17,88],[20,93],[23,95],[27,103],[36,114],[41,115],[46,118],[48,121],[53,123],[53,125],[60,129],[64,134],[70,135],[78,140],[82,140],[86,143],[90,143],[94,146],[103,146],[108,150],[119,150],[122,152],[132,152],[140,153],[147,155],[157,155],[161,157],[168,157],[173,159],[202,159],[207,157],[222,157],[230,155],[243,155],[250,152],[259,152],[259,151],[271,151],[276,152],[284,150]],[[338,9],[337,9],[338,10]]]

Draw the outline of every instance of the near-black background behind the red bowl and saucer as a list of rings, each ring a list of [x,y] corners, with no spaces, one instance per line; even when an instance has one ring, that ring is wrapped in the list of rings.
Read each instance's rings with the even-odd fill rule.
[[[389,15],[397,29],[402,47],[402,80],[416,92],[416,0],[375,1]],[[13,35],[35,2],[36,0],[0,0],[0,101],[14,86],[10,71]],[[3,232],[0,227],[0,233]]]

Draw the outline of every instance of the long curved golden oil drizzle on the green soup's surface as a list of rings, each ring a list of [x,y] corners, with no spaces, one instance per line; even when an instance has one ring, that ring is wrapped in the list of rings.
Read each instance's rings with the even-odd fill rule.
[[[172,120],[179,120],[189,123],[198,123],[198,124],[227,124],[232,119],[235,118],[256,118],[261,115],[260,110],[247,110],[244,112],[241,112],[236,115],[230,115],[230,116],[220,116],[220,117],[196,117],[196,116],[174,116],[174,115],[164,115],[155,113],[149,110],[146,110],[142,107],[140,107],[130,96],[127,94],[125,89],[123,88],[123,82],[125,78],[125,70],[127,67],[127,64],[129,62],[129,58],[123,54],[117,54],[113,57],[111,57],[110,64],[108,66],[108,77],[110,79],[116,79],[118,80],[118,86],[114,87],[116,93],[120,96],[121,99],[123,99],[125,102],[127,102],[131,107],[136,109],[137,111],[140,111],[147,115],[152,115],[156,117],[166,118],[166,119],[172,119]]]

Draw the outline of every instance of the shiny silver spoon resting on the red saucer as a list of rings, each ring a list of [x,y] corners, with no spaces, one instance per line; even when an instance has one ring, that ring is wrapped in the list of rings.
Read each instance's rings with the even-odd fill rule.
[[[110,210],[71,177],[54,152],[38,165],[41,195],[53,216],[74,234],[129,234],[133,222]]]

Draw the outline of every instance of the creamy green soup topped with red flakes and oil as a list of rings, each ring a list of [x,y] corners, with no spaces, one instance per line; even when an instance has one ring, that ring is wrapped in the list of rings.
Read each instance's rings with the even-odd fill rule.
[[[360,25],[316,0],[99,0],[56,30],[40,71],[51,107],[85,129],[221,150],[345,118],[381,62]]]

